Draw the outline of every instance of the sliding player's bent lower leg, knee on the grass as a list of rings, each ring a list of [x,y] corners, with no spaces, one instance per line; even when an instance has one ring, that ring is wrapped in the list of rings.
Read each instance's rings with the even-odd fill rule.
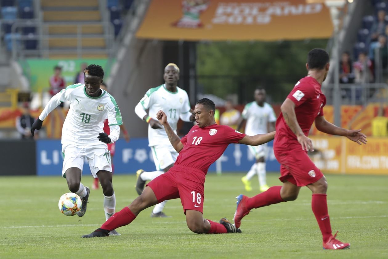
[[[187,227],[197,234],[241,233],[239,228],[232,225],[227,219],[220,223],[204,219],[203,214],[197,210],[186,210]]]

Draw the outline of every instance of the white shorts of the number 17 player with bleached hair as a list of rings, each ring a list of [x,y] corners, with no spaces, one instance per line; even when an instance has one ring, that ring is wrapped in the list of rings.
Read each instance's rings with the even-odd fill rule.
[[[172,165],[179,155],[171,145],[156,145],[151,146],[150,148],[156,170],[163,170],[169,165]]]

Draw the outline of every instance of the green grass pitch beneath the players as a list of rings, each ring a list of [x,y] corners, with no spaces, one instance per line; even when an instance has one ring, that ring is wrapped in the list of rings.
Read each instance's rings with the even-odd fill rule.
[[[233,218],[235,197],[244,193],[241,176],[207,176],[205,218]],[[268,185],[279,185],[277,177],[268,174]],[[326,177],[333,232],[340,230],[338,239],[350,242],[350,250],[322,250],[307,188],[294,202],[253,210],[242,220],[241,234],[194,234],[180,200],[172,200],[165,207],[171,218],[151,218],[149,208],[119,228],[121,236],[83,239],[105,220],[101,189],[91,191],[84,217],[66,217],[57,207],[68,192],[62,177],[0,177],[0,258],[388,258],[388,177]],[[135,176],[113,179],[120,210],[137,197]],[[91,186],[92,177],[82,182]]]

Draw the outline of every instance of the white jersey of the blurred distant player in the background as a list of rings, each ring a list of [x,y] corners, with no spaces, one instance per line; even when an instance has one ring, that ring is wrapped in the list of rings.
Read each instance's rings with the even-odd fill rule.
[[[276,121],[274,109],[268,103],[263,107],[256,102],[246,104],[242,118],[246,119],[245,134],[250,136],[268,133],[268,122]]]

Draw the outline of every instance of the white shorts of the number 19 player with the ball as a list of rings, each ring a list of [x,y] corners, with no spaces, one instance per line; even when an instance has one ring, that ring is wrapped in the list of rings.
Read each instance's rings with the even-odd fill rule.
[[[111,153],[108,150],[107,146],[105,148],[101,147],[78,147],[73,145],[62,146],[63,158],[63,167],[62,167],[62,176],[66,170],[71,167],[77,167],[83,169],[83,162],[85,158],[88,160],[90,171],[94,178],[97,178],[97,172],[99,170],[106,170],[112,172],[112,160]]]

